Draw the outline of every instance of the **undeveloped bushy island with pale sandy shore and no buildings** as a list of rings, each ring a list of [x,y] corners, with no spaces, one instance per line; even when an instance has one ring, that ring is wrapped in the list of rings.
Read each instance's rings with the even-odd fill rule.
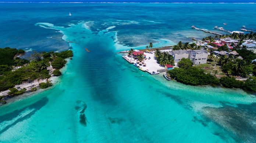
[[[52,86],[49,79],[60,76],[66,59],[73,56],[72,50],[34,52],[21,58],[24,53],[22,49],[0,48],[0,105],[6,104],[8,98]]]

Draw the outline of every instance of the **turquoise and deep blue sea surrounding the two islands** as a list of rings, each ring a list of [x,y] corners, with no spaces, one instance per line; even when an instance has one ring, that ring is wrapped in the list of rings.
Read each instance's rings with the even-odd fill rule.
[[[4,4],[0,5],[3,7]],[[184,22],[177,22],[179,25],[174,28],[168,27],[171,18],[164,19],[166,15],[162,14],[175,13],[170,11],[174,7],[189,10],[192,6],[202,8],[200,12],[203,13],[209,11],[207,7],[210,5],[22,4],[24,7],[14,14],[10,7],[17,5],[5,7],[5,11],[9,10],[8,16],[13,16],[5,22],[16,19],[12,26],[17,31],[8,30],[11,26],[2,23],[1,28],[7,33],[2,39],[6,42],[1,46],[14,45],[13,42],[17,41],[21,43],[18,48],[38,51],[70,48],[74,57],[63,71],[60,82],[52,89],[0,107],[0,142],[254,142],[254,95],[242,90],[193,87],[166,81],[161,75],[152,76],[139,71],[116,53],[131,47],[143,48],[147,44],[143,41],[167,46],[188,33],[194,37],[204,36],[205,33],[190,29],[193,18],[183,19],[195,15],[196,10],[190,10],[191,14],[177,10],[173,19]],[[35,6],[37,9],[32,8]],[[234,15],[242,11],[239,9],[241,5],[231,6]],[[255,11],[254,6],[243,5],[249,11],[248,16]],[[113,7],[118,8],[111,9]],[[149,7],[155,7],[153,12],[147,11]],[[22,17],[28,8],[34,13]],[[75,16],[76,12],[72,12],[74,17],[71,18],[60,16],[64,9],[80,14]],[[80,12],[88,9],[94,11]],[[137,15],[129,14],[136,10]],[[120,11],[122,15],[117,14]],[[39,14],[42,15],[40,18]],[[214,10],[209,13],[214,14]],[[93,15],[95,19],[92,19]],[[153,19],[154,24],[149,24],[154,15],[159,16]],[[184,15],[183,18],[180,15]],[[213,23],[213,19],[210,20],[202,25],[211,27],[207,24]],[[198,24],[200,21],[205,22],[198,20]],[[239,28],[242,23],[253,28],[250,20],[237,21],[238,24],[233,22],[234,25],[231,21],[226,23],[230,23],[232,29]],[[24,29],[15,27],[17,23],[26,25],[27,34],[22,33]],[[183,27],[184,23],[189,23],[188,28]],[[164,30],[160,30],[160,26]],[[180,31],[179,27],[186,32],[175,37],[172,34]],[[170,33],[167,32],[169,29]],[[21,38],[15,39],[15,36]],[[32,37],[33,40],[29,41]],[[30,43],[35,45],[29,46]],[[91,52],[86,52],[85,48]]]

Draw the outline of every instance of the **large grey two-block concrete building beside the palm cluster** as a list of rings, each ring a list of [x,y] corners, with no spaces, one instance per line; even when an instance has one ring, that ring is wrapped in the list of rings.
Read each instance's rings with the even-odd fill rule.
[[[174,50],[169,52],[173,56],[174,63],[177,63],[182,59],[190,59],[193,64],[206,64],[208,52],[206,50]]]

